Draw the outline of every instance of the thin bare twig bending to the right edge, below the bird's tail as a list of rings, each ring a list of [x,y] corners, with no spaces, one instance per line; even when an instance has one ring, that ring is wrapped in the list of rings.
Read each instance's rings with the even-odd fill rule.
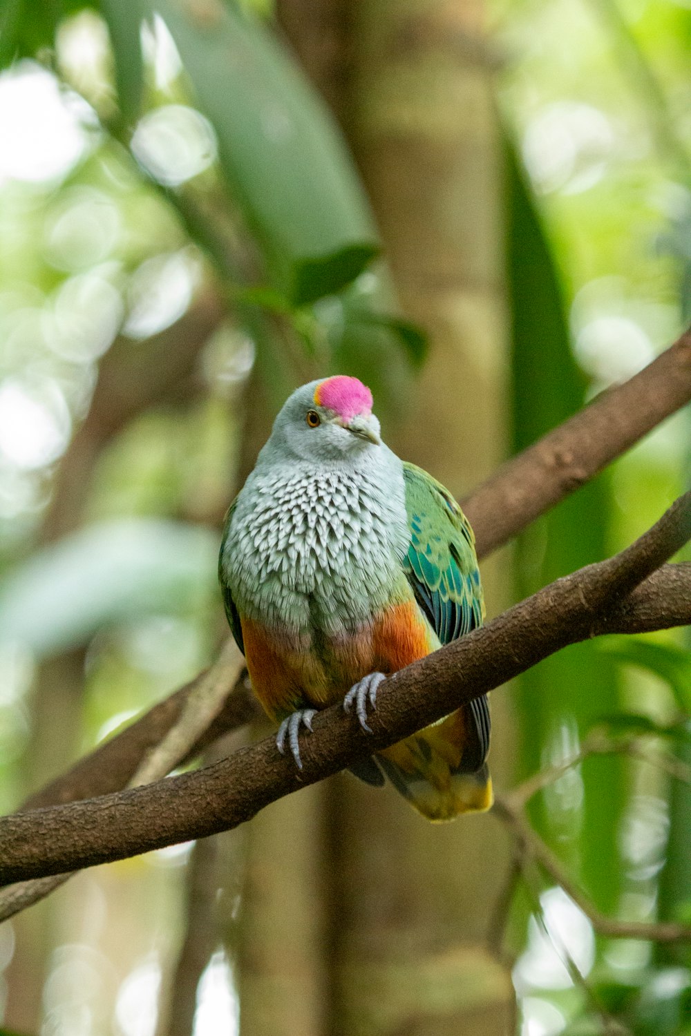
[[[516,808],[510,796],[497,798],[492,810],[513,831],[522,852],[539,863],[554,884],[560,885],[567,895],[582,910],[598,934],[612,939],[650,939],[660,943],[691,940],[691,927],[688,925],[673,922],[620,921],[606,917],[572,881],[562,861],[534,831],[523,810]]]

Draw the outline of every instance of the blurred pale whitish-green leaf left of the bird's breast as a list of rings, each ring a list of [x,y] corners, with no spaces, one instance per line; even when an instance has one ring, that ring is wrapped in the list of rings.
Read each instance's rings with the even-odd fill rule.
[[[120,519],[31,555],[0,583],[0,640],[38,656],[83,644],[100,627],[200,604],[215,587],[219,542],[196,525]]]

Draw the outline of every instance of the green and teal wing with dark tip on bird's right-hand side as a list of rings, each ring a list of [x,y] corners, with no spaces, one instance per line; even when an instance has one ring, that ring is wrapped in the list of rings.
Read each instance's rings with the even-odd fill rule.
[[[442,644],[482,626],[485,602],[478,571],[474,537],[460,507],[441,483],[404,462],[405,505],[410,545],[404,567],[415,600]],[[465,707],[476,738],[463,753],[463,769],[479,770],[489,751],[487,695]]]

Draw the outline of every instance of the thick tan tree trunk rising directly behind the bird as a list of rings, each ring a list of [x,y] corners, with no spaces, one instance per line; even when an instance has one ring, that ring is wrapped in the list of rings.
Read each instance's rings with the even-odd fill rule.
[[[285,0],[283,25],[326,99],[337,98],[403,311],[431,341],[387,441],[460,495],[502,459],[507,436],[500,154],[482,5],[361,0],[349,38],[329,45],[336,77],[314,19],[295,17],[305,7]],[[332,31],[345,24],[338,2],[315,17]],[[496,562],[484,581],[489,610],[500,610]],[[503,783],[501,698],[493,720],[492,771]],[[431,826],[391,789],[345,777],[329,797],[334,1036],[511,1031],[511,978],[485,949],[510,867],[497,823]]]

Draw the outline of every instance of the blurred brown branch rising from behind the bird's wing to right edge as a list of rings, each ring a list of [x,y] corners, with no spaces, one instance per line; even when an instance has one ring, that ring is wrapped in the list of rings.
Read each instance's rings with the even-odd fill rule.
[[[463,501],[484,557],[602,471],[691,400],[691,332],[624,384],[609,388]]]

